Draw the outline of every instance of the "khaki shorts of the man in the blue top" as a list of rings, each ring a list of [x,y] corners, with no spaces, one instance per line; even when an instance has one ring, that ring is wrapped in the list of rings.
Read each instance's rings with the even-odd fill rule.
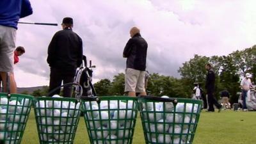
[[[13,72],[16,29],[0,25],[0,72]]]

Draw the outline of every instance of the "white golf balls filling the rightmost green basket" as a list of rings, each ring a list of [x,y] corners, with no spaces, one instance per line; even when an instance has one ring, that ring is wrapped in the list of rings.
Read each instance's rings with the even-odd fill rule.
[[[142,114],[148,140],[152,143],[189,143],[196,113],[198,104],[179,102],[173,106],[172,102],[143,103]]]

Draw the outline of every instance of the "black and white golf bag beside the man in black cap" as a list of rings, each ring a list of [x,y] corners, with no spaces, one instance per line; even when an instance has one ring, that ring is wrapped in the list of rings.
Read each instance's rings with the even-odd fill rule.
[[[83,65],[84,64],[84,65]],[[95,66],[92,66],[92,61],[90,61],[90,66],[87,67],[87,60],[86,56],[83,56],[83,63],[81,64],[81,67],[77,68],[76,76],[74,83],[80,84],[83,88],[83,97],[93,97],[96,96],[95,88],[92,84],[92,68],[95,68]],[[75,86],[75,88],[79,88],[78,86]]]

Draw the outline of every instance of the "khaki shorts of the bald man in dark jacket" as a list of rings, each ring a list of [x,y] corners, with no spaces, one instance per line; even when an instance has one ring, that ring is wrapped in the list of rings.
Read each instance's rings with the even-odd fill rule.
[[[145,92],[145,71],[126,68],[124,92]]]

